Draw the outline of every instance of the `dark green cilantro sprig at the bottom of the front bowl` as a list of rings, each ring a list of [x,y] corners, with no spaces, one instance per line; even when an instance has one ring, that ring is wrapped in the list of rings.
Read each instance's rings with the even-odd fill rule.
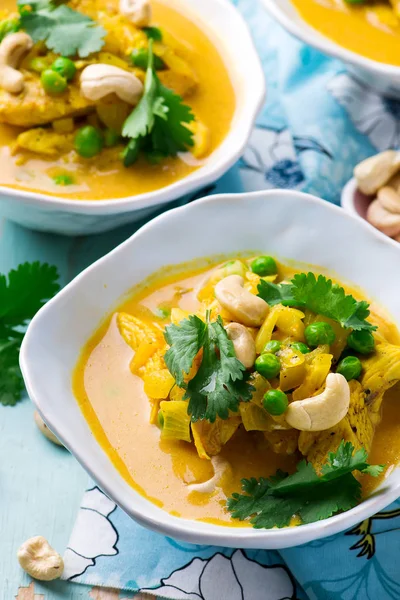
[[[354,471],[377,477],[383,469],[368,464],[364,448],[354,452],[351,442],[343,440],[337,451],[328,455],[321,475],[303,460],[293,475],[278,471],[270,479],[243,479],[244,494],[232,494],[228,510],[235,519],[250,519],[256,529],[286,527],[293,516],[303,524],[313,523],[358,504],[361,484]]]

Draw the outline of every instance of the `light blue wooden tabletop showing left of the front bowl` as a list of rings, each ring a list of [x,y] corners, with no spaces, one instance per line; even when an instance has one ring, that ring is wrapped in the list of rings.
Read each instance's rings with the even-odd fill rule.
[[[0,272],[27,260],[47,261],[58,266],[64,285],[136,228],[64,238],[0,220]],[[33,583],[18,564],[18,547],[35,535],[64,552],[88,481],[69,452],[43,437],[33,412],[27,397],[15,407],[0,406],[0,600],[117,600],[116,592],[72,583]]]

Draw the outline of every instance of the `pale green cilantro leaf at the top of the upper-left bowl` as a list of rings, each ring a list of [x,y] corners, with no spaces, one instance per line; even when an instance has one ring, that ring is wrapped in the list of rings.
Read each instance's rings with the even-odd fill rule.
[[[52,0],[18,0],[21,28],[62,56],[86,58],[104,46],[105,29],[93,19]]]

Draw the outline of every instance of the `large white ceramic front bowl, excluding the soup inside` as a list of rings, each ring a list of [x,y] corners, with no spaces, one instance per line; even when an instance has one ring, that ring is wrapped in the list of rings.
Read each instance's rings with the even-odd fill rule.
[[[49,427],[99,486],[139,523],[196,544],[285,548],[332,535],[400,496],[400,469],[356,508],[287,529],[228,528],[180,519],[131,488],[96,442],[71,389],[78,355],[104,316],[165,265],[215,254],[264,251],[337,273],[379,298],[400,325],[400,247],[342,209],[295,191],[210,196],[169,211],[86,269],[33,319],[21,350],[28,393]],[[384,265],[384,268],[382,268]]]

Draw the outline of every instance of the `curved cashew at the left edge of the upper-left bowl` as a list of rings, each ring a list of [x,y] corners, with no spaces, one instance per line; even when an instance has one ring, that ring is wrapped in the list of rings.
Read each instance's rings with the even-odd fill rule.
[[[18,71],[21,60],[33,46],[32,38],[19,31],[7,35],[0,44],[0,88],[11,94],[24,89],[24,75]]]

